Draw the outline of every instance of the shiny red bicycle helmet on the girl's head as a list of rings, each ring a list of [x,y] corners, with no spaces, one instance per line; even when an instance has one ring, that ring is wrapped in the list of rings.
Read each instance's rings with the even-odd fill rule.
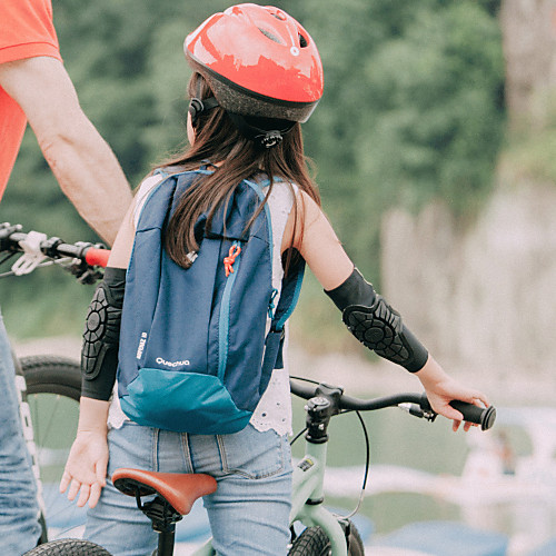
[[[219,105],[236,115],[304,122],[322,96],[314,40],[278,8],[241,3],[215,13],[183,50]]]

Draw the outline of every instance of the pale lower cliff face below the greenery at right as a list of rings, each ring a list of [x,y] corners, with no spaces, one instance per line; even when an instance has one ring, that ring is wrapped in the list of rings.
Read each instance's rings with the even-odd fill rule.
[[[384,220],[385,292],[431,351],[504,376],[556,360],[556,188],[499,187],[460,229],[441,205]],[[556,369],[555,374],[556,374]]]

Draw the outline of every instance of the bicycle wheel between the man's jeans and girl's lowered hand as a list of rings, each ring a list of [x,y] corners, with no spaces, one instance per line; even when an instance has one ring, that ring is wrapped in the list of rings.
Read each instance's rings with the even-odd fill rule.
[[[39,492],[43,499],[48,538],[79,536],[86,509],[78,508],[58,492],[77,431],[81,391],[79,364],[57,356],[22,357],[18,373],[27,384],[24,399],[29,406],[34,439],[34,446],[32,441],[28,446],[30,451],[34,449],[39,466]],[[22,394],[24,396],[24,391]]]

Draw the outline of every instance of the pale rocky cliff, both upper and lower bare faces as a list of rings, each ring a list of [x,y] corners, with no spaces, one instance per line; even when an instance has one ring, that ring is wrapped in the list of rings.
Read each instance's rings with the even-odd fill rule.
[[[556,87],[556,1],[507,0],[500,22],[510,127],[542,126]],[[556,185],[499,166],[471,222],[441,203],[385,216],[384,291],[444,360],[500,378],[556,375]]]

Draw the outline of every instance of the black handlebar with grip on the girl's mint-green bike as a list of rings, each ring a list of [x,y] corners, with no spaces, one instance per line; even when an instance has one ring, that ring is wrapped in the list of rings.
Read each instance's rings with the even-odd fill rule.
[[[339,393],[336,399],[338,409],[374,411],[376,409],[384,409],[385,407],[404,407],[405,404],[409,404],[409,407],[404,407],[404,409],[407,409],[416,417],[426,417],[429,420],[434,420],[437,416],[424,393],[401,393],[373,399],[360,399],[344,395],[341,388],[335,388],[324,384],[318,386],[304,386],[290,380],[290,387],[291,394],[304,399],[311,399],[316,396],[328,397],[330,394],[337,395],[337,393]],[[480,425],[483,430],[492,428],[496,420],[496,409],[493,406],[486,408],[478,407],[460,400],[450,401],[450,406],[461,413],[465,421]]]

